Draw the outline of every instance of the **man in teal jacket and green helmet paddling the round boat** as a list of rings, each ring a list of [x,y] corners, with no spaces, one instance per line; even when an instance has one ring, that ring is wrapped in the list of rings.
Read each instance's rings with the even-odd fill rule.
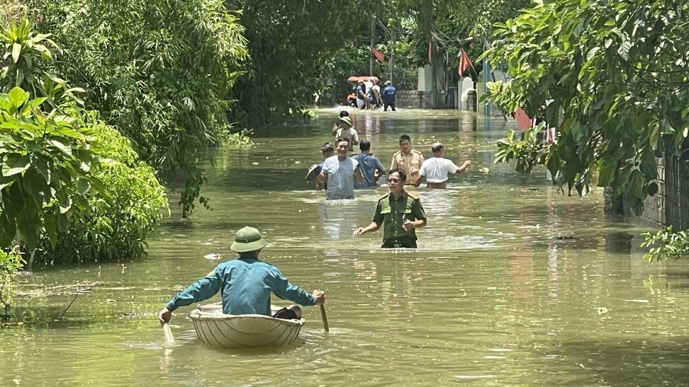
[[[172,312],[180,306],[191,305],[220,291],[225,314],[262,314],[271,316],[270,294],[303,306],[322,305],[325,292],[314,290],[312,294],[291,284],[280,270],[259,260],[259,253],[267,246],[261,233],[253,227],[237,231],[230,249],[239,258],[220,263],[213,272],[189,285],[170,300],[158,313],[161,324],[169,323]],[[273,317],[301,318],[299,308],[283,308]]]

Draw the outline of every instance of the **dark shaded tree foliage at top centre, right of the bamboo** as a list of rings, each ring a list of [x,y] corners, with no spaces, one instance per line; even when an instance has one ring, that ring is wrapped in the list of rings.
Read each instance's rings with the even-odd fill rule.
[[[231,115],[247,127],[292,119],[313,104],[315,94],[327,87],[325,80],[337,75],[322,73],[321,64],[347,42],[368,46],[359,42],[360,33],[371,30],[372,16],[383,7],[379,0],[343,0],[336,6],[316,0],[225,4],[242,10],[249,40],[252,61],[233,88],[238,105]]]

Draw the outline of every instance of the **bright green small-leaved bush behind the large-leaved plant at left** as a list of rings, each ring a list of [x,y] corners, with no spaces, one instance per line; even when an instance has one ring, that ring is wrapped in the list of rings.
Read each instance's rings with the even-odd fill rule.
[[[68,111],[74,124],[89,128],[101,144],[91,147],[100,161],[91,174],[106,187],[110,199],[87,193],[88,210],[74,212],[67,231],[58,232],[55,245],[43,238],[36,262],[139,258],[145,253],[145,238],[167,209],[164,187],[153,168],[138,160],[130,141],[99,120],[96,112]]]

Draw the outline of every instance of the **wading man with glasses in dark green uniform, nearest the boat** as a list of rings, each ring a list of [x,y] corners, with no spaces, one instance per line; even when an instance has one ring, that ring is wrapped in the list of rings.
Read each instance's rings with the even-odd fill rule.
[[[359,227],[354,235],[361,236],[369,231],[376,231],[384,224],[381,248],[416,248],[415,229],[426,225],[426,214],[419,196],[404,190],[405,180],[407,174],[403,169],[390,171],[390,192],[378,200],[371,224]]]

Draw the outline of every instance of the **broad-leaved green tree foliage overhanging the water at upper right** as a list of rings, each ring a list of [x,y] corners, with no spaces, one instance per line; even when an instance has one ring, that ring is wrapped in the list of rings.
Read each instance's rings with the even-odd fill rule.
[[[545,164],[580,194],[597,170],[598,185],[626,190],[639,214],[658,190],[655,156],[679,156],[689,130],[688,16],[683,1],[563,0],[498,25],[487,55],[514,79],[490,98],[544,114],[559,133],[539,152],[502,141],[500,159]]]

